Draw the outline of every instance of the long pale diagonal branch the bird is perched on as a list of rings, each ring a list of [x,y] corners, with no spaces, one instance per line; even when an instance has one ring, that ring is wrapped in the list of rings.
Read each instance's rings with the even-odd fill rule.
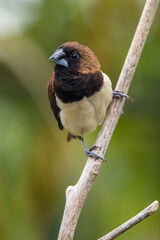
[[[127,93],[131,84],[138,60],[140,58],[144,43],[148,36],[152,21],[154,19],[160,0],[147,0],[142,16],[140,18],[135,36],[126,57],[122,72],[120,74],[116,89]],[[110,139],[122,113],[125,99],[114,99],[108,109],[106,119],[99,132],[96,145],[100,150],[95,152],[104,156]],[[100,171],[102,161],[100,159],[88,158],[84,170],[75,186],[69,186],[66,190],[66,204],[63,219],[60,227],[58,240],[72,240],[78,218],[87,195],[91,190],[97,175]]]

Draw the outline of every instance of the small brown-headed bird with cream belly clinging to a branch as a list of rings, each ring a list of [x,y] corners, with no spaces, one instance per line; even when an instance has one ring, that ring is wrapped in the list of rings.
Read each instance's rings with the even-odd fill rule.
[[[109,77],[102,72],[94,52],[76,41],[60,45],[49,60],[55,63],[48,80],[48,97],[60,130],[68,131],[67,141],[81,140],[84,152],[92,158],[105,158],[87,148],[84,134],[93,132],[104,121],[112,98],[129,98],[112,90]]]

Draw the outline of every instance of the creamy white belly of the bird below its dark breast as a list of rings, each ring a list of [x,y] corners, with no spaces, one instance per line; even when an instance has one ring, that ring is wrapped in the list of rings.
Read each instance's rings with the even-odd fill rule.
[[[83,136],[84,133],[93,132],[103,122],[107,107],[112,100],[111,81],[104,73],[103,76],[103,87],[89,98],[84,97],[81,101],[63,103],[56,97],[57,105],[61,109],[61,122],[71,134]]]

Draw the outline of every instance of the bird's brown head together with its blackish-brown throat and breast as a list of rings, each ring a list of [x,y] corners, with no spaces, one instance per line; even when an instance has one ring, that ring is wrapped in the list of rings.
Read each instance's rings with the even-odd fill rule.
[[[80,101],[101,89],[100,63],[90,48],[78,42],[66,42],[49,60],[55,63],[53,88],[62,102]]]

